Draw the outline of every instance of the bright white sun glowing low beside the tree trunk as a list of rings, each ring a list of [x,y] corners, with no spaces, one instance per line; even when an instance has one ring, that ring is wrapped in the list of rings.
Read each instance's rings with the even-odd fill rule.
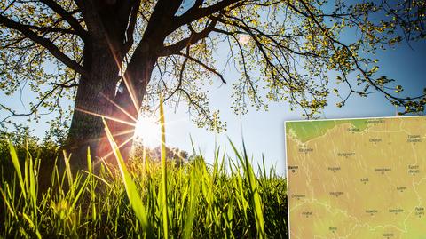
[[[145,147],[158,147],[161,144],[160,123],[158,123],[158,120],[154,116],[138,116],[135,139]]]

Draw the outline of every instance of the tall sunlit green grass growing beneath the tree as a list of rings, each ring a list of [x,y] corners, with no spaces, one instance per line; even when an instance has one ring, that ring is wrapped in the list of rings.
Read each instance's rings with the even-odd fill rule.
[[[179,167],[117,152],[118,169],[101,163],[97,175],[91,163],[60,173],[45,147],[3,141],[0,153],[4,238],[288,238],[286,179],[255,175],[244,150]]]

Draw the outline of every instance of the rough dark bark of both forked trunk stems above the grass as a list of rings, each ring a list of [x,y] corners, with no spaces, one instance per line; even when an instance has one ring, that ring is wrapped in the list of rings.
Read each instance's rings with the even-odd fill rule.
[[[83,62],[88,74],[80,80],[78,86],[67,149],[74,155],[73,166],[84,169],[87,147],[91,147],[93,160],[109,154],[106,160],[114,163],[114,155],[110,154],[112,150],[99,116],[115,119],[107,120],[108,126],[116,144],[121,147],[123,157],[129,157],[139,106],[158,58],[158,48],[170,33],[170,16],[176,12],[180,1],[170,7],[164,3],[155,7],[146,32],[122,78],[119,77],[119,71],[123,56],[133,43],[131,35],[135,21],[132,19],[136,19],[140,1],[95,0],[78,3],[90,34],[85,42]],[[168,28],[159,28],[161,25],[167,25]]]

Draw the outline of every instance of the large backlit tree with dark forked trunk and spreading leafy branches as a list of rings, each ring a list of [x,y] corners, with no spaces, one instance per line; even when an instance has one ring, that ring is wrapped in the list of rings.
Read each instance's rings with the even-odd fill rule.
[[[330,92],[342,99],[338,107],[352,94],[381,92],[403,114],[424,110],[424,92],[402,96],[369,58],[424,40],[424,1],[6,0],[0,9],[1,89],[29,84],[39,93],[29,112],[2,108],[10,116],[37,117],[42,108],[62,116],[59,100],[74,100],[67,148],[80,163],[87,146],[105,155],[99,116],[128,147],[143,100],[159,92],[186,100],[200,126],[223,127],[199,85],[211,76],[226,83],[214,62],[225,44],[225,68],[241,73],[233,82],[236,113],[283,100],[314,117]],[[345,87],[330,89],[331,73]]]

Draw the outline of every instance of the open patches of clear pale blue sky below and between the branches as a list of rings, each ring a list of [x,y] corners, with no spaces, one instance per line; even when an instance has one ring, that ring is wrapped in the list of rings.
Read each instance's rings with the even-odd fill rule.
[[[422,89],[426,87],[425,66],[426,61],[426,43],[412,44],[413,49],[402,43],[397,50],[388,50],[380,52],[380,70],[377,76],[390,76],[396,79],[397,84],[405,87],[405,92],[411,95],[422,94]],[[236,72],[230,70],[225,72],[226,79],[238,77]],[[230,81],[232,83],[232,81]],[[342,85],[343,86],[343,85]],[[344,87],[344,86],[343,86]],[[189,135],[193,137],[195,146],[200,148],[206,156],[207,161],[211,162],[215,141],[217,145],[227,148],[227,153],[233,156],[227,137],[241,147],[241,128],[243,137],[248,149],[248,153],[253,155],[256,163],[262,162],[262,154],[266,162],[266,167],[275,165],[280,174],[285,173],[285,147],[284,147],[284,122],[287,120],[302,120],[300,110],[290,111],[286,103],[271,103],[269,111],[256,111],[250,108],[245,116],[235,116],[231,106],[231,84],[214,84],[209,88],[210,105],[212,108],[220,109],[221,117],[227,122],[227,131],[216,134],[205,129],[197,128],[186,113],[186,108],[182,104],[176,113],[172,108],[166,108],[166,121],[170,125],[166,129],[168,138],[167,144],[170,147],[179,147],[188,152],[192,152]],[[0,92],[0,100],[11,108],[25,110],[22,105],[27,105],[28,100],[34,98],[34,95],[25,93],[22,96],[23,104],[20,102],[20,96],[5,96]],[[322,118],[343,118],[343,117],[372,117],[372,116],[395,116],[396,109],[385,100],[383,95],[375,93],[367,98],[351,97],[343,108],[335,107],[336,99],[330,98],[329,106],[322,114]],[[5,116],[4,111],[0,111],[0,118]],[[39,123],[30,123],[34,133],[43,138],[44,131],[48,129],[51,116],[42,116]],[[24,118],[16,118],[14,122],[25,123]]]

